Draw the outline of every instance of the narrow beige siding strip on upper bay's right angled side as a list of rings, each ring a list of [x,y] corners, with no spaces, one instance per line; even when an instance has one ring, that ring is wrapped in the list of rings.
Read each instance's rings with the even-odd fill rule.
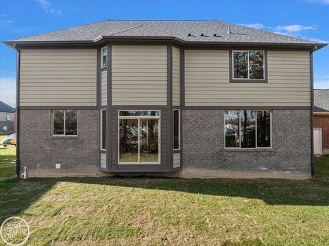
[[[180,49],[173,47],[173,106],[180,106]]]

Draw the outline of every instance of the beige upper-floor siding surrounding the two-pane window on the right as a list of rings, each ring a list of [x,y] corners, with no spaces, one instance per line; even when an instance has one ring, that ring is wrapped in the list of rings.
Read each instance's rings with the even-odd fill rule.
[[[229,51],[185,51],[186,106],[310,106],[310,54],[268,51],[268,83],[230,83]]]

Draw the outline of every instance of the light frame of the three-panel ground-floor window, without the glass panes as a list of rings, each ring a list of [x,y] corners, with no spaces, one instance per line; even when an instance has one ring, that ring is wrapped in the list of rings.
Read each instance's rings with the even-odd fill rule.
[[[239,111],[239,147],[226,147],[226,122],[225,122],[225,111]],[[224,148],[225,149],[271,149],[272,148],[272,110],[248,110],[248,111],[256,111],[256,122],[255,122],[255,134],[256,134],[256,145],[254,148],[241,148],[241,111],[243,110],[224,110]],[[269,111],[269,147],[257,147],[257,112],[258,111]]]

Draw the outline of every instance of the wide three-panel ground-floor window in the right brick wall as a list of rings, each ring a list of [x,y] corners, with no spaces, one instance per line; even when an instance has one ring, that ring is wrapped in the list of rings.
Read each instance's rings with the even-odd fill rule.
[[[225,147],[271,147],[271,111],[226,111]]]

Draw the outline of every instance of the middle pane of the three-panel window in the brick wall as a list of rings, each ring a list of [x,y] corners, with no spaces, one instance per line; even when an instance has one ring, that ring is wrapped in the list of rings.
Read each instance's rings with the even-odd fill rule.
[[[241,110],[241,148],[256,147],[256,111]]]

